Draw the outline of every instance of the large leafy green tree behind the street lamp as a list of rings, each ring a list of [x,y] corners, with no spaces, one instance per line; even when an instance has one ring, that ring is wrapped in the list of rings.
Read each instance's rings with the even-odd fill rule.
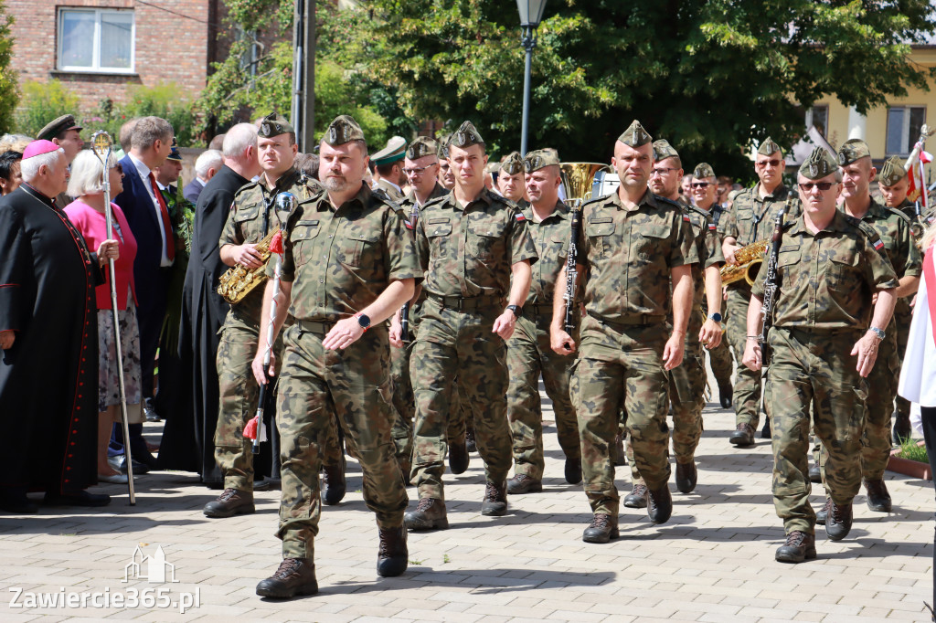
[[[513,3],[371,0],[344,52],[395,86],[414,119],[472,120],[489,151],[519,146],[523,51]],[[538,29],[531,147],[605,161],[632,119],[668,138],[687,167],[705,159],[750,177],[742,153],[792,143],[803,109],[835,94],[859,112],[932,70],[907,41],[936,27],[929,0],[552,0]]]

